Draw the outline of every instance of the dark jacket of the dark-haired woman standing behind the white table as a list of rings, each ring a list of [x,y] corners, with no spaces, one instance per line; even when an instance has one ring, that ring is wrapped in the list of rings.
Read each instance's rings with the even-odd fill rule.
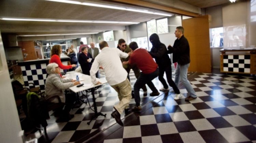
[[[87,74],[87,75],[90,75],[90,69],[92,65],[91,62],[87,61],[87,59],[89,58],[93,58],[91,57],[90,53],[88,53],[87,56],[83,52],[79,55],[79,64],[81,66],[83,74]]]

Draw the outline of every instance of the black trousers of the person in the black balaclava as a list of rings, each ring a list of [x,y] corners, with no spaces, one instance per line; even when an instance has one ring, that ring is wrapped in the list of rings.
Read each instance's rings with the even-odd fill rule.
[[[171,65],[159,66],[159,76],[158,76],[158,79],[163,84],[163,88],[167,89],[168,85],[167,85],[165,79],[163,78],[163,74],[164,73],[166,74],[166,78],[167,78],[168,84],[172,87],[174,92],[176,94],[180,94],[180,90],[177,88],[177,86],[175,85],[175,83],[172,80],[172,68],[171,68]]]

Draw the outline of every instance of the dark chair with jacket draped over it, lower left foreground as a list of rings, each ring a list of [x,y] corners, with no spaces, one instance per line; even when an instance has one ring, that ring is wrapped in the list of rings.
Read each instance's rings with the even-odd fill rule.
[[[62,103],[60,97],[55,95],[49,99],[45,99],[44,97],[45,92],[41,92],[38,95],[41,95],[39,98],[37,94],[30,95],[30,104],[28,108],[28,101],[27,98],[24,98],[22,101],[22,107],[25,112],[26,117],[32,122],[35,127],[40,127],[40,124],[44,127],[45,136],[48,138],[46,127],[47,122],[46,120],[49,119],[49,111],[54,109],[63,108],[65,103]],[[58,99],[58,103],[51,103],[52,99]],[[28,110],[29,109],[29,110]],[[41,132],[40,128],[38,128]]]

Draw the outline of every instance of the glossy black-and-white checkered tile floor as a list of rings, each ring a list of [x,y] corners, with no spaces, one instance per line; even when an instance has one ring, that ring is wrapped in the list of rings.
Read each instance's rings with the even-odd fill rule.
[[[69,122],[56,123],[52,115],[47,121],[49,140],[43,136],[39,142],[256,142],[255,77],[212,73],[190,73],[188,77],[197,93],[196,100],[185,101],[187,91],[183,86],[179,87],[183,96],[178,101],[173,100],[172,89],[157,97],[141,94],[142,111],[126,118],[123,113],[124,127],[110,115],[118,103],[116,92],[109,85],[102,86],[96,91],[96,102],[106,118],[98,117],[87,125],[93,111],[88,104],[77,105],[71,111],[75,117]],[[134,84],[134,75],[130,78]],[[153,83],[158,89],[162,86],[157,78]],[[89,102],[92,104],[90,96]],[[134,104],[132,99],[130,107]]]

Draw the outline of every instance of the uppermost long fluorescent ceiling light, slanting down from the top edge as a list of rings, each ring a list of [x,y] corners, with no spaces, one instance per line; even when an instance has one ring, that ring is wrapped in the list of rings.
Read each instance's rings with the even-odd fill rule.
[[[150,12],[148,10],[138,10],[138,9],[135,9],[135,8],[126,8],[124,6],[103,5],[103,4],[88,3],[88,2],[71,1],[71,0],[47,0],[47,1],[55,1],[55,2],[63,2],[63,3],[71,3],[71,4],[80,4],[80,5],[87,5],[87,6],[96,6],[96,7],[111,8],[111,9],[116,9],[116,10],[124,10],[124,11],[132,11],[132,12],[139,12],[139,13],[162,15],[162,16],[172,16],[171,14],[167,14],[167,13]]]

